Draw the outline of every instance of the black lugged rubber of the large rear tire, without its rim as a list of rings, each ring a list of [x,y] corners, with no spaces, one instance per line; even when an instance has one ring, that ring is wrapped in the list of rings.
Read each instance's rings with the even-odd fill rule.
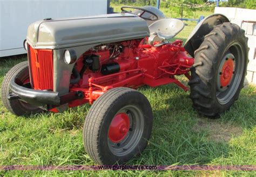
[[[215,95],[212,94],[212,89],[215,87],[214,72],[218,70],[219,51],[223,50],[228,42],[233,38],[242,41],[245,52],[247,52],[247,40],[245,31],[240,29],[238,25],[232,23],[223,23],[214,27],[212,32],[204,37],[203,43],[199,49],[194,52],[194,65],[191,67],[191,80],[188,85],[191,87],[190,98],[193,101],[193,107],[199,113],[207,117],[218,117],[230,108],[230,105],[219,106],[216,104]],[[248,63],[248,55],[246,53],[245,59]],[[245,74],[246,74],[245,66]],[[244,75],[245,75],[244,74]],[[238,88],[238,93],[235,94],[232,102],[238,99],[239,93],[244,83],[244,77]]]

